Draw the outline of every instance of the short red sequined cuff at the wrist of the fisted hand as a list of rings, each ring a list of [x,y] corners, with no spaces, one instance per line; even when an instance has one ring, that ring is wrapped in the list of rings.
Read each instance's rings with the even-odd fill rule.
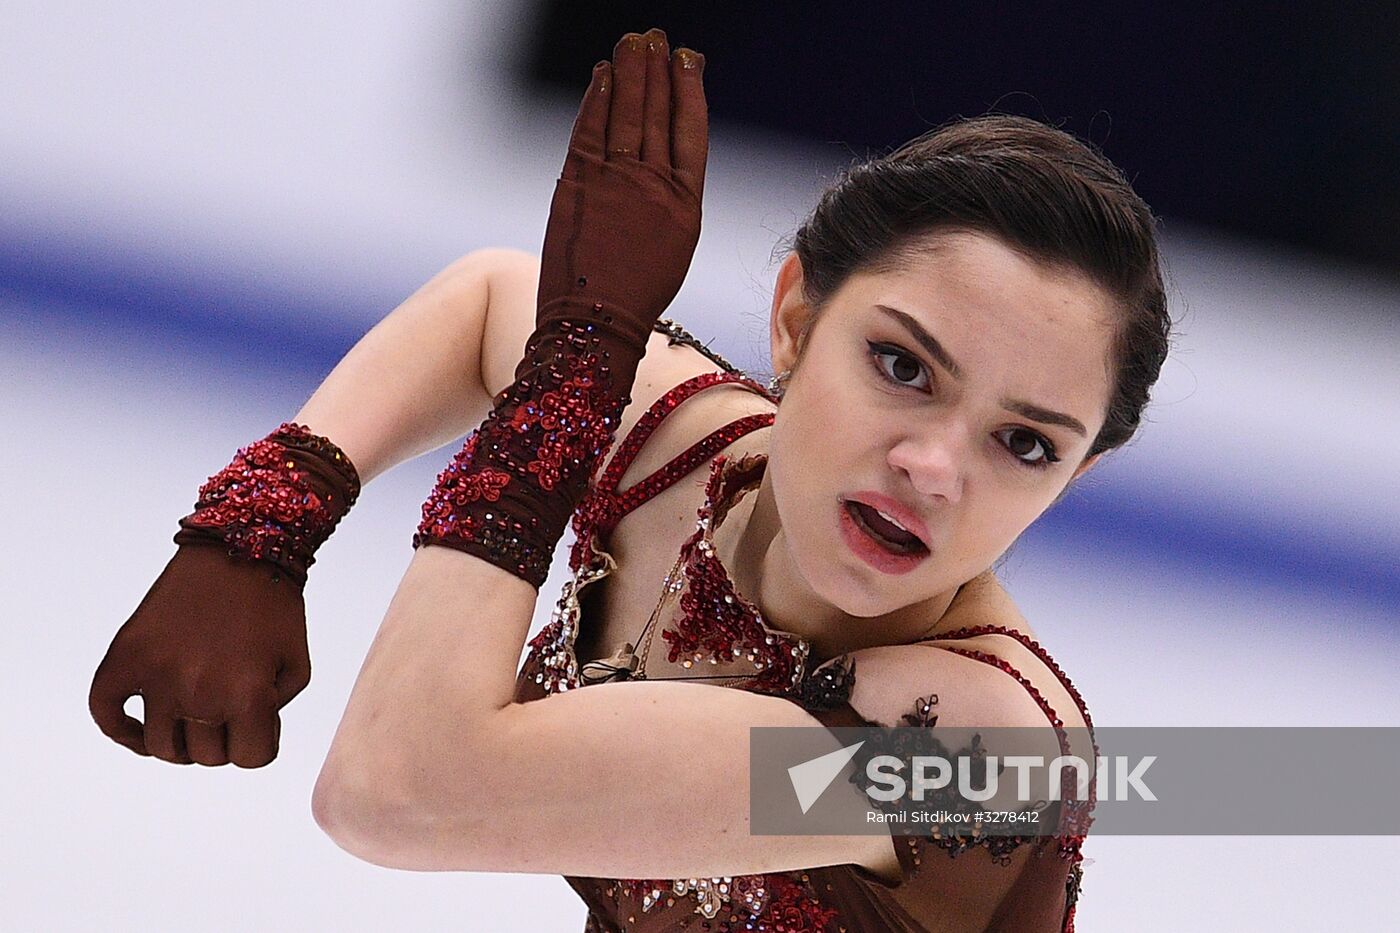
[[[175,542],[220,544],[230,556],[265,560],[304,584],[316,548],[358,495],[360,475],[344,451],[288,422],[199,488]]]

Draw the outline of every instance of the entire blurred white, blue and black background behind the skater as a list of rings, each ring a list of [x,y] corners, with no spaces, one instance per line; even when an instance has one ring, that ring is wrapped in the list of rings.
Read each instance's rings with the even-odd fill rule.
[[[1103,147],[1163,219],[1177,350],[1004,580],[1098,724],[1400,726],[1394,10],[942,7],[0,1],[0,926],[581,929],[560,878],[389,871],[311,818],[455,444],[318,555],[272,766],[137,758],[87,691],[237,447],[455,258],[538,249],[588,69],[650,25],[708,59],[672,317],[764,377],[774,247],[853,158],[993,108]],[[1085,855],[1089,933],[1396,918],[1394,838]]]

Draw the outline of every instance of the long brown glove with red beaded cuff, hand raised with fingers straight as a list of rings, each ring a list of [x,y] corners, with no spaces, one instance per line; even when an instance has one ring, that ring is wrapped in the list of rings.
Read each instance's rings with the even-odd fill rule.
[[[554,191],[536,328],[515,382],[438,476],[414,546],[479,556],[536,588],[630,401],[651,326],[700,235],[703,59],[659,29],[594,69]]]

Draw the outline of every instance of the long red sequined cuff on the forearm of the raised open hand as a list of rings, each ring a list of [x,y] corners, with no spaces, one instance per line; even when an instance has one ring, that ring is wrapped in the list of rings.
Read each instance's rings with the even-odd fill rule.
[[[438,475],[413,535],[414,548],[465,551],[536,590],[612,444],[648,333],[602,304],[546,312],[560,317],[531,336],[515,382]]]

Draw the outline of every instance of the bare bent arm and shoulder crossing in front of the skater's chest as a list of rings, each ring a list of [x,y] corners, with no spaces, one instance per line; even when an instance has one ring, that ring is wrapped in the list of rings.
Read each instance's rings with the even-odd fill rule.
[[[643,681],[514,703],[535,597],[473,556],[414,553],[312,797],[316,822],[342,848],[419,871],[893,871],[888,836],[750,835],[750,727],[820,726],[787,700]],[[855,656],[851,703],[872,721],[897,723],[911,696],[937,686],[941,726],[1046,724],[991,665],[918,646]],[[854,794],[846,803],[864,811]],[[1015,873],[997,877],[1009,884]]]

